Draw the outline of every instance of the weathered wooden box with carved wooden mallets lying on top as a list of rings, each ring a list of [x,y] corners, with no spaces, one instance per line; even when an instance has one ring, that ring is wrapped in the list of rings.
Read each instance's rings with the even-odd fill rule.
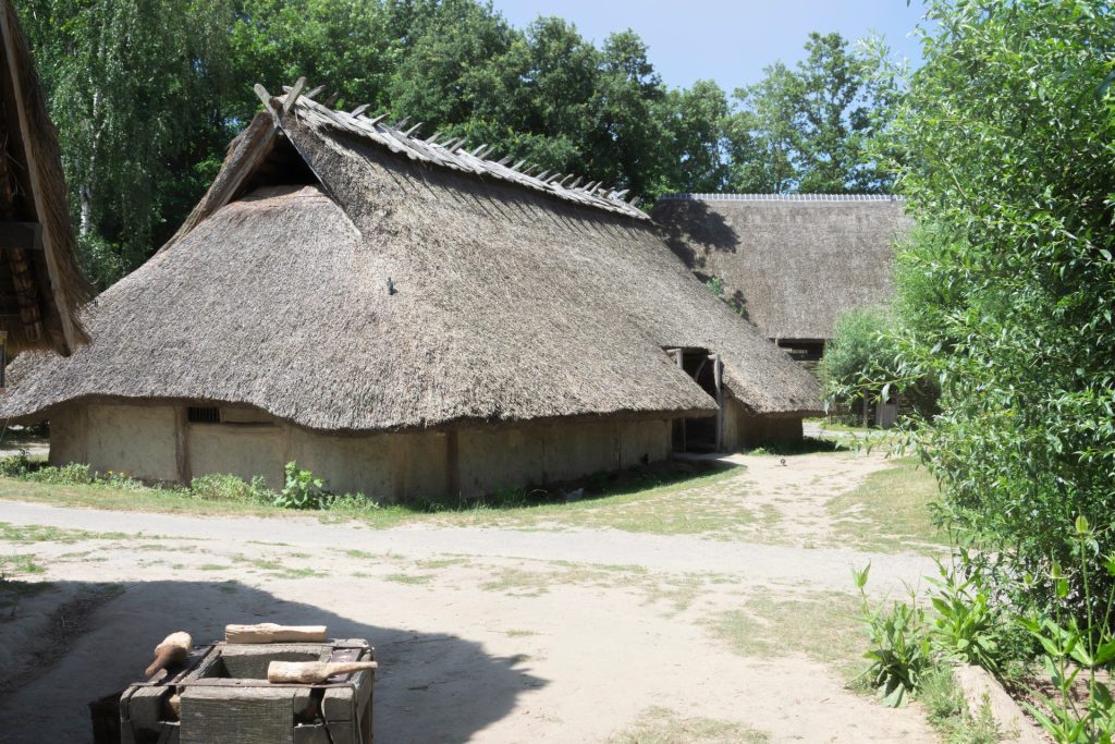
[[[123,744],[371,744],[375,671],[269,683],[272,661],[371,661],[360,639],[195,647],[183,667],[119,698]]]

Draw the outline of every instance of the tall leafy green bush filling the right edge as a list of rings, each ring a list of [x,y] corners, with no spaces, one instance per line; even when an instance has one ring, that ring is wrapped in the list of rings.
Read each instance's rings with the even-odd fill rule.
[[[1076,516],[1105,525],[1083,557],[1096,581],[1115,550],[1115,15],[934,0],[929,17],[886,143],[923,225],[900,261],[904,352],[943,392],[922,444],[956,523],[1034,578],[1016,599],[1079,602],[1082,574],[1064,596],[1050,579],[1076,562]]]

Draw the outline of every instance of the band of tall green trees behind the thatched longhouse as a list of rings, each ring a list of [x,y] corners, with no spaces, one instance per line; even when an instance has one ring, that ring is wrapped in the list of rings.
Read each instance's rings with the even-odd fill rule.
[[[112,283],[181,223],[259,109],[299,76],[631,195],[872,191],[863,59],[838,36],[737,93],[669,90],[631,30],[600,47],[560,18],[516,29],[481,0],[26,0],[81,253]],[[859,168],[859,170],[857,170]]]

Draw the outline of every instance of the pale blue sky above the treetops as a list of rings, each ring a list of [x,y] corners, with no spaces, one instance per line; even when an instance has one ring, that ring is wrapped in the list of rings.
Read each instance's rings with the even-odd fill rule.
[[[917,64],[909,36],[923,15],[921,0],[493,0],[512,25],[561,16],[598,44],[612,31],[634,29],[650,60],[671,87],[712,78],[730,93],[757,83],[775,60],[796,62],[809,31],[840,31],[847,39],[879,32],[900,57]]]

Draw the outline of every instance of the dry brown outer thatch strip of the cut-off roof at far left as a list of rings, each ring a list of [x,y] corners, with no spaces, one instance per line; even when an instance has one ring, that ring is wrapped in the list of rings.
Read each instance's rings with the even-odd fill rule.
[[[13,349],[49,346],[62,354],[70,354],[77,346],[89,340],[81,326],[79,311],[91,296],[91,288],[77,264],[77,240],[69,220],[58,134],[47,114],[42,87],[11,0],[3,0],[0,28],[3,35],[2,52],[8,67],[6,73],[11,76],[13,93],[18,99],[17,126],[23,134],[28,175],[38,220],[42,225],[45,268],[49,277],[49,305],[52,310],[43,318],[43,325],[54,325],[50,316],[55,316],[58,325],[56,332],[60,336],[54,340],[33,339],[21,327],[8,327],[9,346]]]

